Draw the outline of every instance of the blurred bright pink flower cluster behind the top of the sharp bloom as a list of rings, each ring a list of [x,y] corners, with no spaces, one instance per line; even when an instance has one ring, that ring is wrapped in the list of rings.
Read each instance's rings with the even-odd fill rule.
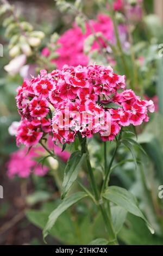
[[[106,41],[108,40],[112,44],[116,44],[114,27],[112,20],[108,15],[99,14],[97,16],[97,20],[90,20],[89,23],[86,23],[85,34],[83,34],[82,29],[74,23],[73,27],[62,34],[58,40],[58,44],[61,45],[57,50],[59,57],[52,60],[52,62],[57,65],[58,69],[61,69],[65,64],[70,66],[86,66],[89,64],[89,57],[84,53],[84,41],[92,34],[92,29],[95,33],[101,32]],[[120,25],[118,29],[122,46],[126,49],[128,47],[126,27],[124,25]],[[101,36],[98,36],[98,40],[104,48],[108,47]],[[99,49],[99,47],[98,42],[95,41],[92,45],[91,51]],[[47,47],[43,48],[43,56],[48,57],[50,53],[51,52]],[[111,62],[110,58],[108,58],[108,63],[109,62]]]

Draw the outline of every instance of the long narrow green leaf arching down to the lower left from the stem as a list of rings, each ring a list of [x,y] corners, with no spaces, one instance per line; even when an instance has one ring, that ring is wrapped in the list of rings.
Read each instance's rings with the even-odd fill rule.
[[[57,221],[58,217],[66,211],[70,206],[77,203],[79,200],[87,197],[87,194],[84,192],[77,192],[75,194],[71,194],[69,197],[65,198],[62,203],[52,211],[51,215],[49,215],[48,222],[43,229],[43,239],[48,235],[49,231],[54,226],[55,222]]]

